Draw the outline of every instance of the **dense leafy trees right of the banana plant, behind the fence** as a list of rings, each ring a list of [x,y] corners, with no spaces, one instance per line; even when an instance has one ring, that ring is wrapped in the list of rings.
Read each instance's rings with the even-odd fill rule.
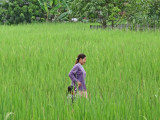
[[[160,0],[74,0],[73,14],[80,19],[111,23],[159,24]]]

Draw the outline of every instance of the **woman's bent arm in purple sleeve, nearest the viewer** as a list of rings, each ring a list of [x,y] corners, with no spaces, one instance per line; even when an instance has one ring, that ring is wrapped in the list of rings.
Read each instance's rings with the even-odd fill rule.
[[[77,71],[79,69],[79,66],[76,64],[74,65],[74,67],[72,68],[72,70],[69,72],[69,77],[73,82],[79,82],[79,80],[75,77]]]

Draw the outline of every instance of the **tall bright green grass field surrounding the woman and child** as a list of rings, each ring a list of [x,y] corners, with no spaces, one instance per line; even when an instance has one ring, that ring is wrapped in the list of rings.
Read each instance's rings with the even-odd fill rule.
[[[67,104],[69,71],[87,62],[89,99]],[[0,120],[159,120],[160,34],[89,24],[0,26]]]

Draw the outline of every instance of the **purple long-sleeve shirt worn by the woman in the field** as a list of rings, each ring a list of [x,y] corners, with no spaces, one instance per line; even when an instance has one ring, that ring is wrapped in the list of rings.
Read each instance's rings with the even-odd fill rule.
[[[85,77],[86,72],[83,66],[80,63],[77,63],[73,66],[72,70],[69,72],[69,77],[72,80],[72,85],[76,86],[76,82],[81,82],[79,90],[86,90]]]

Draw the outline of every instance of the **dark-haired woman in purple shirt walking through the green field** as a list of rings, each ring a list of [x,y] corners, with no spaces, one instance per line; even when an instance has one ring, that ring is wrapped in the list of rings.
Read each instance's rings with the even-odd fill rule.
[[[76,63],[72,70],[69,72],[69,77],[72,80],[72,85],[76,87],[76,82],[78,83],[79,93],[87,98],[87,89],[85,85],[86,72],[82,65],[86,63],[86,55],[79,54],[76,58]]]

